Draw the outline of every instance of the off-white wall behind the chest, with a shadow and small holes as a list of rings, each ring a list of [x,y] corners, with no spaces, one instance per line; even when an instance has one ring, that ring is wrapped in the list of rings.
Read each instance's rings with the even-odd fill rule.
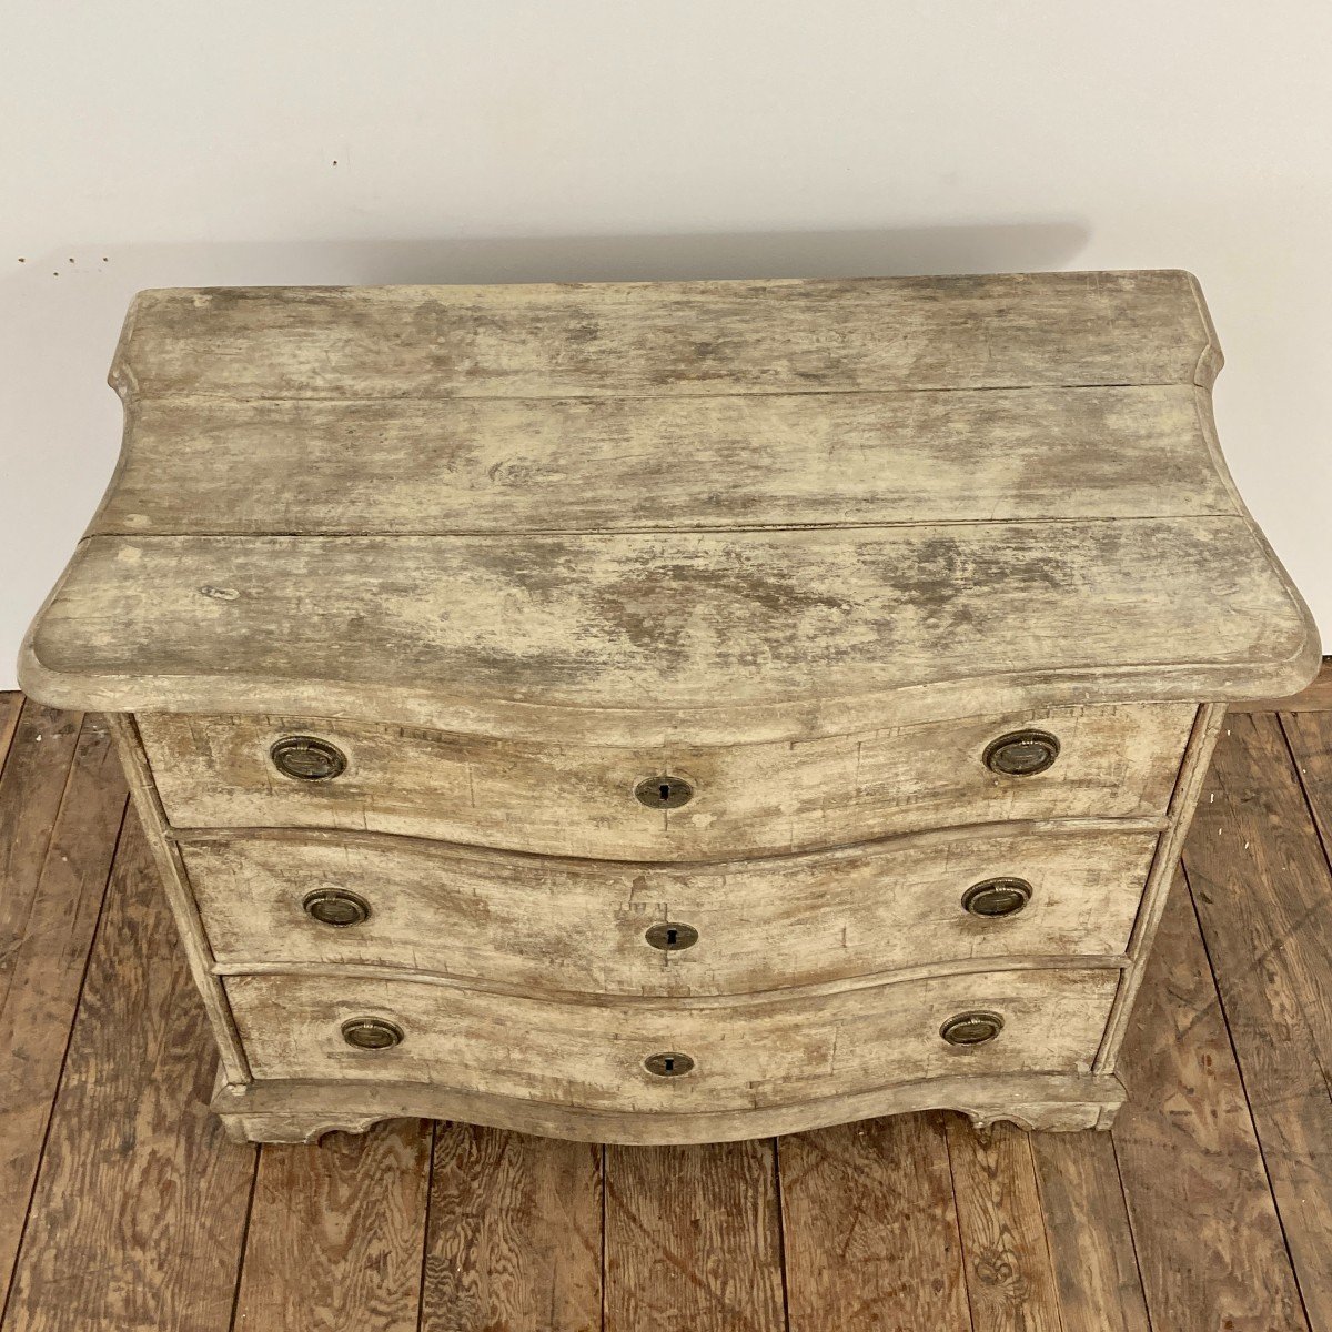
[[[0,3],[0,687],[169,285],[1188,268],[1332,642],[1329,53],[1321,0]]]

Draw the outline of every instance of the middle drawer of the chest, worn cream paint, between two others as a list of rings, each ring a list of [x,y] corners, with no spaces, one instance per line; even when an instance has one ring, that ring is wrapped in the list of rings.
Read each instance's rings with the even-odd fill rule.
[[[920,834],[730,864],[547,859],[332,831],[181,843],[214,958],[546,991],[707,995],[1124,952],[1154,832]]]

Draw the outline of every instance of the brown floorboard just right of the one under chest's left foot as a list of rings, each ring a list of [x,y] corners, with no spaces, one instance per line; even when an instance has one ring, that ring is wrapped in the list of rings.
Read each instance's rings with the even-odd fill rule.
[[[602,1150],[440,1124],[421,1332],[599,1332]]]

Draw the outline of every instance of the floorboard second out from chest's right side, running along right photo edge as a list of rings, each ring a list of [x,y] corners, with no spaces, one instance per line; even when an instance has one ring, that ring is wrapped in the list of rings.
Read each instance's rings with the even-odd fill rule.
[[[1284,721],[1325,818],[1332,717]],[[1227,718],[1184,866],[1300,1293],[1332,1327],[1332,874],[1276,717]]]

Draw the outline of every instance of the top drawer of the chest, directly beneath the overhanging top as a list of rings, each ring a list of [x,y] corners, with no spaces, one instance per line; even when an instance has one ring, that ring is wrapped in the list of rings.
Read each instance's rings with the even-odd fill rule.
[[[1160,818],[1193,715],[1191,703],[1068,707],[706,749],[543,746],[312,717],[141,714],[139,727],[177,827],[705,860],[968,823]],[[1043,738],[994,753],[1031,731]],[[316,753],[302,767],[298,746],[286,759],[274,750],[298,737],[328,762]]]

